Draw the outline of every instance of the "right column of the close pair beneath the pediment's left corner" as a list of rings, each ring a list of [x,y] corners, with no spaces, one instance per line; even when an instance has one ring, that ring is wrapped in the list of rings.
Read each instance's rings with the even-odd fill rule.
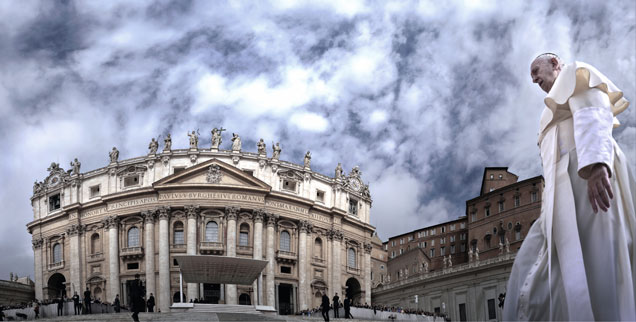
[[[170,207],[159,208],[159,309],[170,312]]]

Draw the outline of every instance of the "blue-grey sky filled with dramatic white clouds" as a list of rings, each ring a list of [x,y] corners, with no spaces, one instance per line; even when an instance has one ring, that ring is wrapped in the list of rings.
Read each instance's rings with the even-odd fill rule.
[[[541,174],[541,52],[636,99],[634,1],[0,1],[0,279],[33,276],[34,180],[238,132],[359,165],[382,239],[465,212],[486,166]],[[636,161],[636,113],[614,135]],[[229,142],[226,137],[225,142]],[[226,146],[227,148],[227,146]]]

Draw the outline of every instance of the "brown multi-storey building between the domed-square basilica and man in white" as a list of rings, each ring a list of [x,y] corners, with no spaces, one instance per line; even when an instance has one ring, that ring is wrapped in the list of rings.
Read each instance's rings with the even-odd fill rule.
[[[541,211],[543,178],[517,180],[508,168],[486,168],[466,216],[389,238],[384,245],[395,256],[388,281],[373,288],[373,303],[446,313],[453,321],[501,320],[498,296]],[[405,236],[412,242],[396,245]]]

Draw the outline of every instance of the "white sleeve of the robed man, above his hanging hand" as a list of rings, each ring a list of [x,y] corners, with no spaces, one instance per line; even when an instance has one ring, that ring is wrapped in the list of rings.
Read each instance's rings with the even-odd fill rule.
[[[591,88],[572,95],[568,102],[574,118],[579,176],[589,178],[592,166],[602,163],[607,166],[611,177],[614,163],[614,115],[609,97],[601,90]]]

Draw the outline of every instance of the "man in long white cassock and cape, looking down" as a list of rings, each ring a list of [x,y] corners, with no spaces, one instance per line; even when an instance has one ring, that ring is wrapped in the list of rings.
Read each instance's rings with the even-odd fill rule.
[[[504,320],[636,320],[636,182],[612,138],[629,103],[596,68],[539,55],[548,93],[541,215],[517,253]]]

